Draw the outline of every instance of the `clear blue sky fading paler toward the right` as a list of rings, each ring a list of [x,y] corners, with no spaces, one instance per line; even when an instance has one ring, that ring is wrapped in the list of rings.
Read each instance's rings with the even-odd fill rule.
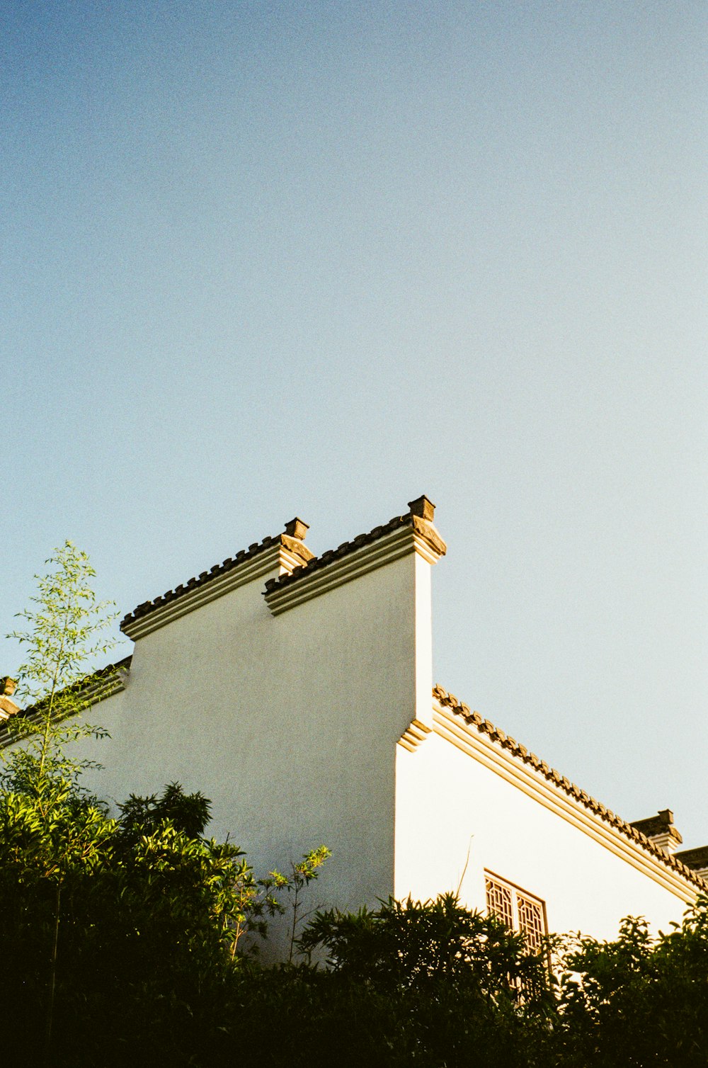
[[[708,843],[703,0],[0,21],[0,632],[426,492],[436,680]]]

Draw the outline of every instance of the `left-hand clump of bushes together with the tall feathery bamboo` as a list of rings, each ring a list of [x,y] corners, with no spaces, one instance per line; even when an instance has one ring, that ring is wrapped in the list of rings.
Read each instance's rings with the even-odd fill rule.
[[[179,1063],[193,1030],[214,1025],[243,934],[265,934],[284,911],[278,893],[297,896],[324,854],[292,878],[258,879],[237,846],[204,837],[209,802],[177,783],[131,795],[109,817],[81,784],[91,761],[67,750],[105,736],[77,713],[88,669],[108,647],[106,606],[70,543],[48,564],[36,607],[21,613],[30,629],[12,635],[28,650],[20,692],[33,704],[12,724],[19,744],[0,776],[3,1052],[15,1063],[123,1065],[158,1064],[170,1050]]]

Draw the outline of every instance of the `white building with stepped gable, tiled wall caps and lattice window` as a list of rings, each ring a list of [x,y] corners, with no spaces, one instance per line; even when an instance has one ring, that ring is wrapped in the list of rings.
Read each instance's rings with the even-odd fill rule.
[[[422,497],[314,556],[294,519],[140,604],[132,657],[100,684],[92,786],[201,789],[259,873],[329,846],[322,906],[459,888],[532,938],[680,920],[708,849],[677,854],[670,812],[625,822],[434,687],[432,520]]]

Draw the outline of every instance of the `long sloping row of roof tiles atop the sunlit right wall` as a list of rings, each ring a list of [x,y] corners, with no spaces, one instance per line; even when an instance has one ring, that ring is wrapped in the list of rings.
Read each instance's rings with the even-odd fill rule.
[[[495,741],[503,749],[509,750],[515,756],[520,757],[524,764],[531,765],[535,771],[540,772],[546,779],[554,783],[555,786],[558,786],[569,797],[575,798],[576,801],[580,801],[584,804],[585,807],[589,808],[594,815],[607,820],[608,823],[620,831],[628,838],[632,838],[633,842],[639,843],[648,852],[652,853],[664,864],[667,864],[668,867],[674,868],[675,871],[682,875],[683,878],[694,883],[694,885],[698,886],[701,890],[705,890],[705,880],[697,875],[696,871],[690,868],[687,864],[677,860],[676,857],[667,853],[660,846],[656,845],[656,843],[651,842],[650,838],[647,838],[646,834],[643,834],[635,827],[632,827],[631,823],[627,822],[627,820],[622,819],[622,817],[617,816],[616,813],[607,808],[605,805],[603,805],[600,801],[597,801],[585,790],[582,790],[575,783],[571,783],[569,779],[562,775],[555,768],[550,768],[545,760],[539,759],[535,753],[530,753],[525,745],[522,745],[509,735],[504,734],[503,731],[500,731],[500,728],[494,726],[494,724],[489,720],[485,720],[479,712],[473,712],[468,705],[458,701],[453,693],[449,693],[442,686],[434,686],[432,696],[437,698],[437,701],[439,701],[445,708],[450,708],[451,711],[461,717],[466,723],[471,726],[475,726],[479,734],[488,735],[492,741]],[[689,851],[690,850],[686,850],[686,852]]]

